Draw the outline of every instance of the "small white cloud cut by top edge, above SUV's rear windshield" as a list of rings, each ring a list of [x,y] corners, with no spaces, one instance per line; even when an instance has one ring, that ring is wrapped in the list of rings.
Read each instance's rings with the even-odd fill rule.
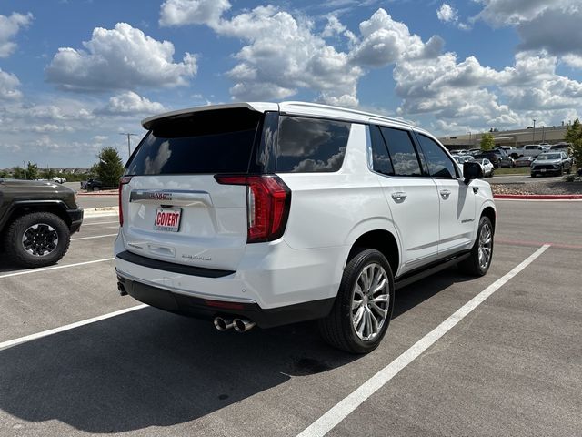
[[[160,7],[160,25],[218,24],[228,9],[228,0],[166,0]]]

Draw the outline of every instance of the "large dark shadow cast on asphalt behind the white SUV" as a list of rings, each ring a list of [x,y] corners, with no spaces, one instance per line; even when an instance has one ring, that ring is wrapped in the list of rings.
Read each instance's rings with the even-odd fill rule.
[[[358,358],[314,323],[218,332],[146,308],[0,351],[0,408],[28,422],[127,432],[190,422]]]

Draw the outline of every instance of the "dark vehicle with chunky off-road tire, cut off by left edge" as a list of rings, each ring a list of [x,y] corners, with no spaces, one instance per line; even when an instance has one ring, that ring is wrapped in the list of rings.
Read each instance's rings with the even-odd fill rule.
[[[82,222],[83,209],[71,188],[51,181],[0,179],[0,249],[16,264],[55,264]]]

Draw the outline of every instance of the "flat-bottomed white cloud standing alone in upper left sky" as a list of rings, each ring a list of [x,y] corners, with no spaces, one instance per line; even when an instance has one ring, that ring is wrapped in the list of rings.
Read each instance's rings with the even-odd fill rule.
[[[71,91],[182,86],[196,76],[196,57],[186,53],[174,62],[174,45],[159,42],[126,23],[115,29],[96,27],[85,50],[59,48],[46,67],[49,82]]]

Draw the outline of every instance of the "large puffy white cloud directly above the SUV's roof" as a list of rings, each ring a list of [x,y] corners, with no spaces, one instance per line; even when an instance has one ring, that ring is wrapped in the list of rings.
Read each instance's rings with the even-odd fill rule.
[[[231,95],[240,100],[281,99],[307,88],[318,92],[320,101],[357,105],[357,80],[363,70],[352,65],[346,53],[327,45],[312,26],[275,6],[221,19],[214,25],[216,33],[247,43],[235,55],[238,64],[227,73],[235,81]]]

